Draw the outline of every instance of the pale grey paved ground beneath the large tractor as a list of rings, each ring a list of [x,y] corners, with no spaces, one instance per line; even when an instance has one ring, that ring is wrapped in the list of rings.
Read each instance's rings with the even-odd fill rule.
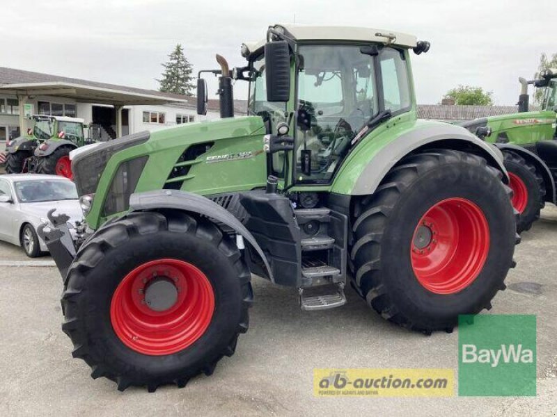
[[[47,261],[49,258],[41,258]],[[61,332],[61,277],[49,266],[10,266],[28,261],[0,243],[1,416],[328,416],[557,414],[557,209],[544,210],[517,247],[508,284],[541,284],[539,295],[508,289],[489,313],[538,316],[538,396],[535,398],[314,398],[313,368],[457,369],[457,331],[430,337],[379,318],[348,291],[340,309],[302,312],[295,291],[254,277],[251,327],[236,354],[212,377],[185,389],[116,391],[93,380],[86,363],[72,359]],[[25,265],[19,263],[19,265]]]

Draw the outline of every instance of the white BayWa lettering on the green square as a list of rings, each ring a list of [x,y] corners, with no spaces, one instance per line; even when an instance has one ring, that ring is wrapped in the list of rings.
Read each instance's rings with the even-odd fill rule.
[[[476,345],[462,345],[462,363],[533,363],[534,352],[522,345],[501,345],[501,349],[478,349]]]

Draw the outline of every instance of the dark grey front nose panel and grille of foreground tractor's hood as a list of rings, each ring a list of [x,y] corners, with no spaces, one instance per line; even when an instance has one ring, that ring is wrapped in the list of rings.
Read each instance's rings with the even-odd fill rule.
[[[97,147],[77,154],[72,161],[72,172],[78,195],[94,194],[99,185],[104,167],[113,154],[134,145],[141,145],[150,138],[149,132],[134,133],[124,138],[102,143]]]

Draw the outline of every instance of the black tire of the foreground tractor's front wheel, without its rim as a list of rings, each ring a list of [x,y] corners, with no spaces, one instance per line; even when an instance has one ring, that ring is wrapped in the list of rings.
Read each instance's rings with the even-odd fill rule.
[[[132,350],[111,324],[111,299],[125,275],[141,263],[177,259],[196,266],[210,280],[214,312],[205,332],[180,352],[152,356]],[[91,376],[107,377],[123,391],[162,384],[185,386],[200,373],[211,375],[231,356],[249,325],[251,274],[233,240],[212,222],[176,211],[130,213],[106,224],[77,253],[65,279],[63,331]]]

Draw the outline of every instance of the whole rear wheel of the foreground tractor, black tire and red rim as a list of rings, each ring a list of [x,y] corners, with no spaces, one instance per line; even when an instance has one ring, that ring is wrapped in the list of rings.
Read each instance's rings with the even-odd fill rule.
[[[509,200],[501,172],[483,158],[408,156],[354,206],[356,291],[387,320],[425,333],[489,309],[513,264]]]

